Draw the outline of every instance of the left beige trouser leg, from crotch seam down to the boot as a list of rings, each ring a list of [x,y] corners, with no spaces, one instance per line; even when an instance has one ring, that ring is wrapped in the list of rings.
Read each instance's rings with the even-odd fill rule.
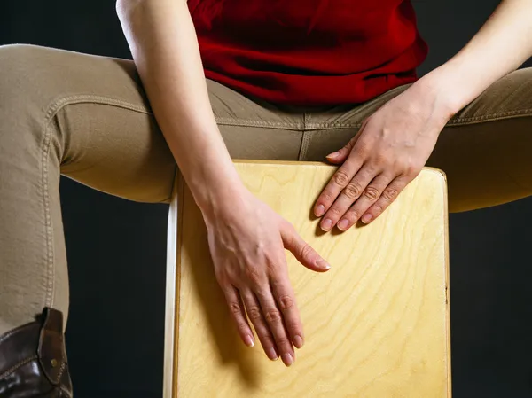
[[[67,313],[61,174],[121,198],[167,202],[176,162],[133,62],[11,45],[0,46],[0,70],[1,333],[43,306]],[[301,114],[207,85],[231,156],[298,158]]]

